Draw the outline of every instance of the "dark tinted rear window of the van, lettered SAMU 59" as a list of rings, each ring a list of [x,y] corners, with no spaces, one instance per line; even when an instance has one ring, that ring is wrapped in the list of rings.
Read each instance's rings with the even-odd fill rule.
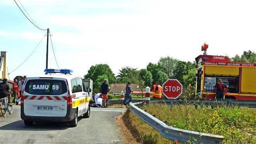
[[[33,95],[61,95],[67,92],[67,84],[63,80],[28,80],[24,90]]]

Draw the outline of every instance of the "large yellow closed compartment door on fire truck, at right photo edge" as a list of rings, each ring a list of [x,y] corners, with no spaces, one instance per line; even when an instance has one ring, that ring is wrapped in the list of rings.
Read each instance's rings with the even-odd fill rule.
[[[256,68],[242,68],[241,92],[256,93]]]

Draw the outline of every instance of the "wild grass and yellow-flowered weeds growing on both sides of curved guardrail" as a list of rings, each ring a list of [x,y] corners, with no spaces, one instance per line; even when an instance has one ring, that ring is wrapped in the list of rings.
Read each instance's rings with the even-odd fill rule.
[[[256,109],[221,106],[214,109],[192,105],[175,105],[172,110],[165,104],[150,104],[141,109],[156,115],[159,120],[167,120],[167,125],[196,132],[223,135],[223,144],[255,144],[256,143]],[[129,110],[124,114],[132,126],[138,131],[134,135],[143,144],[175,143],[150,127]],[[176,142],[179,143],[179,142]],[[191,137],[188,144],[198,143]]]

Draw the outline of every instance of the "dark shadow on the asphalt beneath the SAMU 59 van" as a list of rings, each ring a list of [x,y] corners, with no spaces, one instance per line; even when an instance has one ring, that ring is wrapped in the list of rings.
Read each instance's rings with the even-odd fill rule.
[[[78,122],[82,120],[78,117]],[[47,130],[65,130],[70,127],[68,122],[33,122],[33,125],[26,126],[23,120],[15,121],[0,127],[0,130],[33,130],[33,131],[47,131]],[[75,127],[74,127],[75,128]]]

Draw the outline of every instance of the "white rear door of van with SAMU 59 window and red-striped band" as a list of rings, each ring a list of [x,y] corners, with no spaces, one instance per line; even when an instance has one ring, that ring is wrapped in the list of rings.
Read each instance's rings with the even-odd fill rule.
[[[24,87],[26,116],[66,116],[68,87],[63,78],[27,78]]]

